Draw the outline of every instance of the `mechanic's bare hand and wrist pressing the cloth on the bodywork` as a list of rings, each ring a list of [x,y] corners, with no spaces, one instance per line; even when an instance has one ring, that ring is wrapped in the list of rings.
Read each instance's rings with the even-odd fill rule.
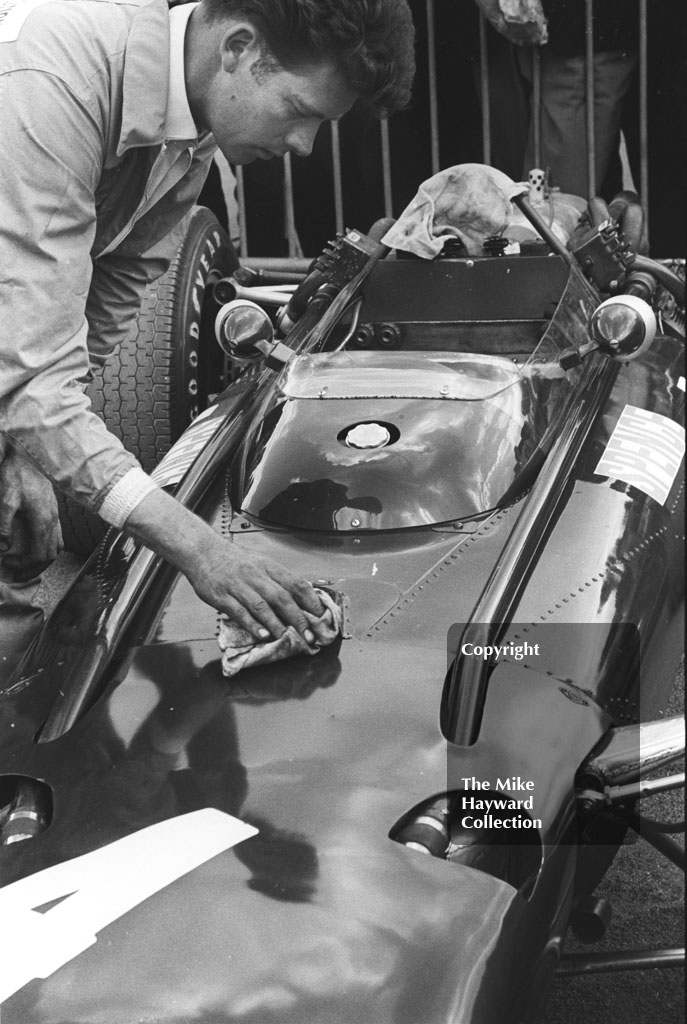
[[[280,637],[294,626],[312,643],[303,609],[320,615],[325,608],[311,585],[269,558],[243,553],[164,490],[144,498],[124,529],[180,569],[202,600],[254,637]]]

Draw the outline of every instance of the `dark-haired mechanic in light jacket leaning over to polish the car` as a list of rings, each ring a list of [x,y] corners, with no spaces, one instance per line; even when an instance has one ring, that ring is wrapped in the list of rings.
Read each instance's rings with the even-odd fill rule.
[[[55,557],[54,483],[256,637],[307,635],[310,585],[161,490],[84,381],[167,269],[216,146],[305,156],[356,99],[402,106],[413,72],[405,0],[0,0],[0,554],[15,513],[30,532],[5,581]],[[22,603],[1,581],[0,653]]]

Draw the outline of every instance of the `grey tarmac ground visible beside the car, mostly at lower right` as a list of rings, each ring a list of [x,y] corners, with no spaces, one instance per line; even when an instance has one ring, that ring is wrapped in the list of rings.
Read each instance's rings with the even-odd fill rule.
[[[79,565],[79,559],[63,554],[46,573],[40,592],[46,610],[58,600]],[[676,677],[667,714],[677,715],[683,710],[681,672]],[[673,766],[669,773],[677,770]],[[682,792],[653,798],[647,803],[645,813],[655,818],[682,820]],[[584,946],[570,939],[567,951],[601,952],[684,944],[683,876],[643,840],[620,850],[597,895],[608,899],[613,908],[605,940]],[[683,970],[646,970],[559,978],[544,1021],[546,1024],[679,1024],[684,1020],[684,1011]]]

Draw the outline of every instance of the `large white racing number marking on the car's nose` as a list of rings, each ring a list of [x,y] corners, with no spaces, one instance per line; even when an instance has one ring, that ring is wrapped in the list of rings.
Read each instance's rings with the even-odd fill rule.
[[[0,1002],[92,946],[97,932],[132,907],[257,831],[207,807],[0,889]],[[35,909],[57,899],[44,913]]]

